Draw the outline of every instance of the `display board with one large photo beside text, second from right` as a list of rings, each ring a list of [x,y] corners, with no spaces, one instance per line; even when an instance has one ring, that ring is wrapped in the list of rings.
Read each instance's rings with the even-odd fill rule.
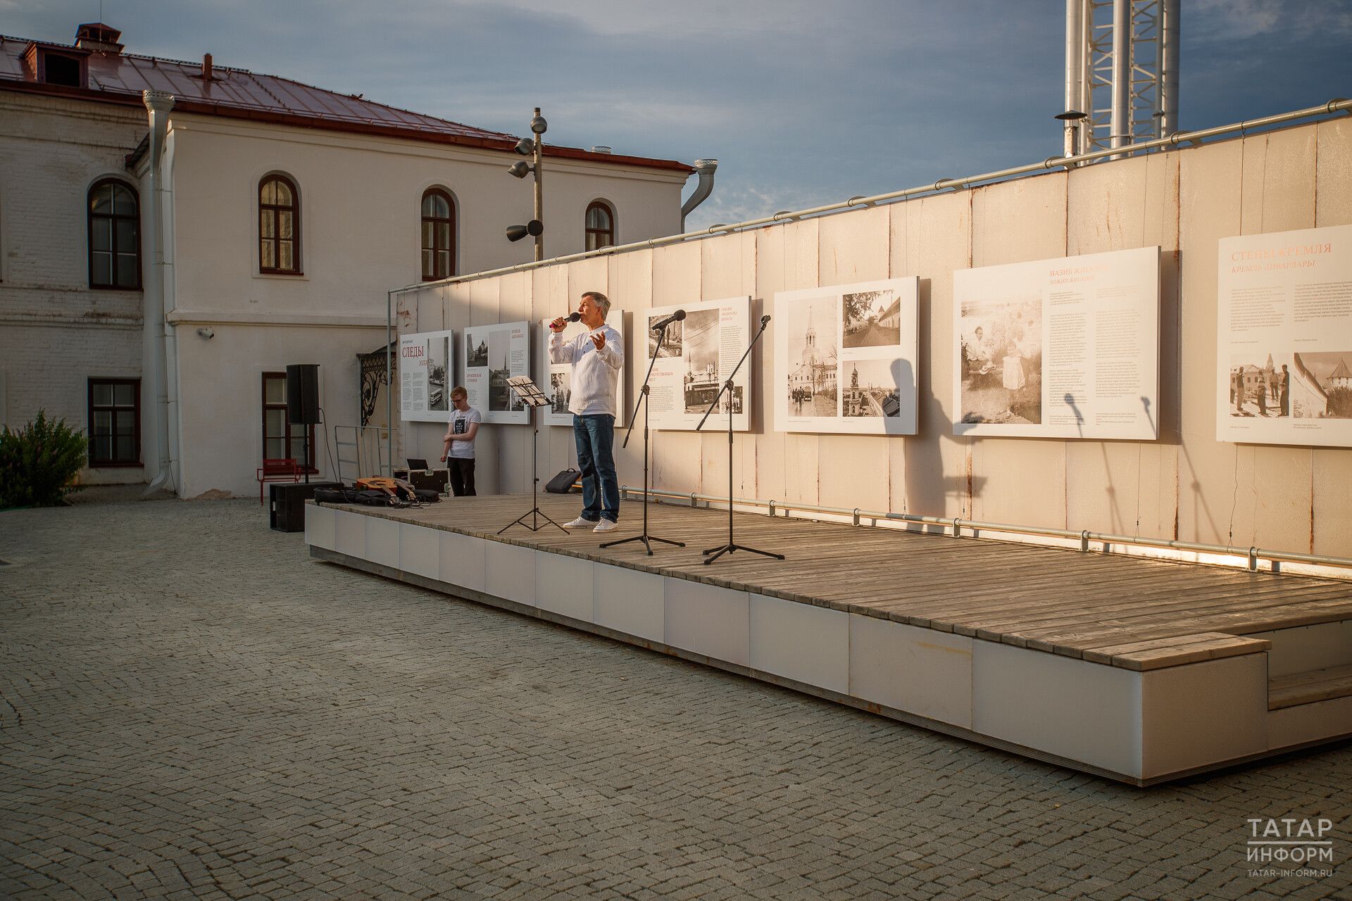
[[[953,273],[953,434],[1159,438],[1160,249]]]

